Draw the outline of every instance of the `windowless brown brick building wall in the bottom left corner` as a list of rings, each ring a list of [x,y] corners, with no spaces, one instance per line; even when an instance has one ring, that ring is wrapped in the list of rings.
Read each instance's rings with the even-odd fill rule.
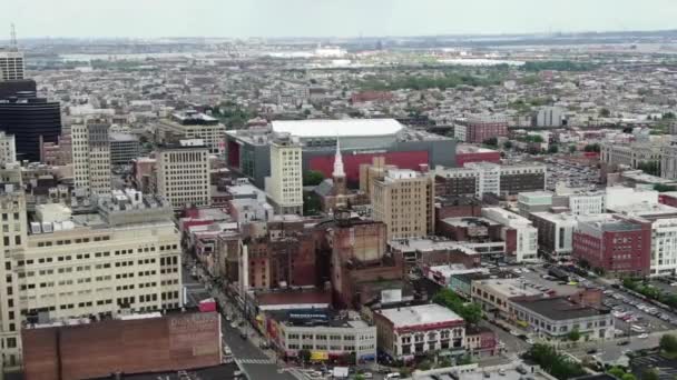
[[[26,380],[80,380],[222,362],[216,312],[28,328],[21,339]]]

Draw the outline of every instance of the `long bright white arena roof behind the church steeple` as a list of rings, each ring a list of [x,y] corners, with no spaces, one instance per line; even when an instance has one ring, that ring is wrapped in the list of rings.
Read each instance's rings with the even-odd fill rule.
[[[314,138],[391,136],[404,126],[395,119],[276,120],[272,122],[272,128],[274,132]]]

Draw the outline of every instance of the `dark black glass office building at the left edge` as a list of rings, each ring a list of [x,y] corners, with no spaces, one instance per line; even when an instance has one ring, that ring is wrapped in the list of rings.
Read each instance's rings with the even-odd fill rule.
[[[59,102],[38,98],[33,91],[0,99],[0,130],[14,136],[18,160],[39,161],[40,137],[57,142],[61,133]]]

